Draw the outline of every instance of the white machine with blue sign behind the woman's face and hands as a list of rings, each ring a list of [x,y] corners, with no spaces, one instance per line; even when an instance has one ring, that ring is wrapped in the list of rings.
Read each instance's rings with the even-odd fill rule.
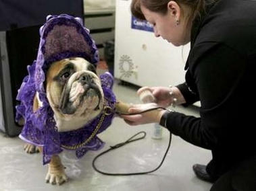
[[[156,38],[151,24],[132,18],[130,3],[116,0],[115,78],[138,86],[184,82],[190,45],[176,47]]]

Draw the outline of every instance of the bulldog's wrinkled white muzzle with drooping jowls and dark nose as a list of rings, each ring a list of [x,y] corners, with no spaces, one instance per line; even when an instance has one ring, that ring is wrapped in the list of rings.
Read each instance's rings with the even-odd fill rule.
[[[72,83],[66,83],[64,86],[59,110],[62,114],[68,115],[100,110],[103,104],[100,88],[92,75],[88,73],[80,75]]]

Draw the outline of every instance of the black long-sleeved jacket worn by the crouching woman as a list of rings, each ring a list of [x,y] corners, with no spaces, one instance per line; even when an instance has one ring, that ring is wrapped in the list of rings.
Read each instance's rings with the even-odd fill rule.
[[[207,171],[217,178],[256,153],[256,1],[217,1],[191,36],[186,83],[177,87],[186,104],[201,101],[201,118],[170,113],[166,128],[211,149]]]

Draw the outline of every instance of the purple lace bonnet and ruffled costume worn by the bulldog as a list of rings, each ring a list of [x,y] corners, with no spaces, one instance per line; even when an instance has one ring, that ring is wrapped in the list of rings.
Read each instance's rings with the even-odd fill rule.
[[[25,118],[20,138],[33,145],[43,146],[43,164],[49,163],[51,155],[63,149],[74,149],[78,158],[88,150],[97,150],[104,143],[97,134],[105,130],[115,115],[116,96],[114,95],[113,76],[104,73],[100,76],[105,97],[105,108],[97,118],[83,128],[68,132],[57,132],[53,110],[49,106],[44,87],[45,73],[54,61],[79,56],[97,65],[99,52],[94,40],[79,17],[70,15],[49,15],[40,29],[41,41],[36,61],[28,65],[28,75],[24,77],[18,91],[16,120]],[[32,111],[36,91],[43,106]]]

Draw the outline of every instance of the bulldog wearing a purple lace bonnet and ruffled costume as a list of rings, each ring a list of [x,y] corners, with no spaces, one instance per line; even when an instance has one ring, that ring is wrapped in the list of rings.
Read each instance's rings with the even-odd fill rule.
[[[116,100],[110,73],[97,75],[97,48],[80,18],[49,15],[40,34],[37,59],[18,90],[16,121],[25,151],[43,153],[46,182],[61,185],[68,176],[59,153],[74,150],[80,158],[101,149],[97,134],[129,104]]]

